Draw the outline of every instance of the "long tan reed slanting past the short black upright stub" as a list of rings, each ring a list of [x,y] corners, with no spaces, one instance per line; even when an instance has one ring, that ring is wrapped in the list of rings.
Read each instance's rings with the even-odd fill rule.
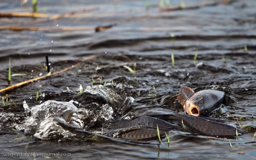
[[[33,78],[33,79],[30,79],[30,80],[27,80],[27,81],[24,81],[24,82],[20,82],[20,83],[18,83],[18,84],[14,84],[14,85],[12,85],[12,86],[3,88],[2,90],[0,90],[0,92],[4,92],[4,91],[7,91],[7,90],[10,90],[10,89],[13,89],[13,88],[17,88],[17,87],[23,86],[24,84],[28,84],[28,83],[30,83],[30,82],[34,82],[34,81],[36,81],[36,80],[40,80],[40,79],[46,78],[46,77],[48,77],[48,76],[53,76],[53,75],[59,74],[59,73],[61,73],[61,72],[65,72],[66,70],[69,70],[69,69],[71,69],[71,68],[74,68],[74,67],[80,65],[82,62],[84,62],[84,61],[86,61],[86,60],[95,59],[95,58],[97,58],[97,57],[98,57],[98,56],[90,56],[90,57],[87,57],[86,59],[83,59],[82,61],[80,61],[80,62],[78,62],[78,63],[76,63],[76,64],[74,64],[74,65],[72,65],[72,66],[70,66],[70,67],[68,67],[68,68],[65,68],[65,69],[60,70],[60,71],[57,71],[57,72],[53,72],[52,74],[46,74],[46,75],[41,76],[41,77]]]

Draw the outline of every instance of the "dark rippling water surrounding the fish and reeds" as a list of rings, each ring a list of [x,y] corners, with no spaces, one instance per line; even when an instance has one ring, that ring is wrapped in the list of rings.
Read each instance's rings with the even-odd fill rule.
[[[180,1],[171,0],[171,7]],[[207,1],[221,2],[221,1]],[[157,4],[158,1],[149,1]],[[186,7],[206,4],[205,1],[184,0]],[[256,2],[234,0],[229,5],[216,4],[200,8],[160,12],[159,7],[146,10],[145,1],[43,1],[39,11],[62,14],[96,6],[97,10],[77,17],[60,18],[22,26],[84,27],[77,31],[12,31],[1,30],[0,38],[0,89],[8,86],[8,61],[11,58],[11,84],[46,74],[42,65],[47,54],[53,72],[86,60],[66,72],[50,76],[25,86],[2,92],[15,103],[0,102],[2,113],[14,113],[12,118],[0,117],[1,159],[10,159],[6,153],[71,153],[72,156],[52,159],[255,159],[256,157]],[[30,11],[30,4],[0,2],[1,12]],[[78,14],[79,15],[79,14]],[[1,25],[10,25],[31,18],[0,18]],[[95,33],[100,25],[117,23],[114,27]],[[58,26],[57,26],[58,25]],[[245,49],[247,47],[247,50]],[[198,50],[196,62],[194,54]],[[171,54],[175,66],[172,67]],[[131,68],[136,62],[136,74]],[[96,67],[98,70],[96,71]],[[92,84],[102,76],[102,82],[122,98],[133,97],[128,111],[139,115],[152,113],[186,114],[176,100],[181,86],[195,91],[221,90],[226,93],[226,103],[221,113],[210,117],[241,127],[245,134],[237,139],[207,137],[182,131],[170,131],[170,144],[166,138],[130,141],[123,139],[94,139],[58,142],[37,140],[25,136],[15,128],[26,118],[23,101],[29,106],[46,100],[78,101],[82,107],[95,107],[94,99],[83,94],[68,92]],[[113,84],[112,83],[113,80]],[[154,88],[153,88],[154,86]],[[38,101],[36,92],[39,90]],[[96,100],[95,100],[96,101]],[[96,101],[99,103],[100,101]],[[101,105],[101,104],[100,104]],[[127,112],[128,112],[127,111]],[[124,113],[125,114],[125,113]],[[3,115],[3,114],[2,114]],[[7,120],[6,120],[7,119]],[[96,124],[96,123],[95,123]],[[91,130],[96,125],[91,124]],[[90,123],[88,123],[90,125]],[[95,126],[94,126],[95,125]],[[232,144],[232,148],[230,147]],[[48,157],[49,158],[49,157]],[[34,159],[18,156],[17,159]],[[36,159],[42,159],[36,156]]]

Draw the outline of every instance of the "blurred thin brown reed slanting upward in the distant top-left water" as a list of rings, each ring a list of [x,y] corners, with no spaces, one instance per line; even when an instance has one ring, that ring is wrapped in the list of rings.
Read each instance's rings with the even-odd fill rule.
[[[43,22],[43,21],[48,21],[48,20],[56,20],[56,19],[62,18],[64,16],[72,16],[72,15],[77,14],[77,13],[91,12],[91,11],[94,11],[94,10],[97,10],[97,9],[98,9],[98,7],[91,7],[91,8],[87,8],[87,9],[84,9],[84,10],[69,12],[69,13],[65,13],[65,14],[58,14],[58,15],[54,15],[54,16],[50,16],[50,17],[46,17],[46,18],[37,19],[37,20],[15,23],[13,25],[2,25],[2,26],[0,26],[0,30],[1,29],[8,29],[9,27],[17,27],[17,26],[20,26],[20,25],[28,25],[28,24],[38,23],[38,22]]]

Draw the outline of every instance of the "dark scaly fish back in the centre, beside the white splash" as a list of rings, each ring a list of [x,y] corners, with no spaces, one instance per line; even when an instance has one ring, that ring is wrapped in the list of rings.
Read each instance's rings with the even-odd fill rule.
[[[165,132],[179,130],[177,125],[173,125],[155,117],[146,115],[127,115],[120,120],[111,122],[106,128],[105,135],[115,138],[129,140],[151,140],[157,139],[157,126],[160,137],[165,136]]]

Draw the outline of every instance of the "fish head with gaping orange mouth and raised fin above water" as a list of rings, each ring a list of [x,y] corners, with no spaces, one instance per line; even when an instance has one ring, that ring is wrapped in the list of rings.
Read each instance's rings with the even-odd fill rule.
[[[195,93],[189,87],[182,87],[180,92],[185,98],[184,111],[194,116],[208,115],[220,107],[225,97],[225,93],[218,90],[201,90]],[[181,98],[178,99],[182,103]]]

